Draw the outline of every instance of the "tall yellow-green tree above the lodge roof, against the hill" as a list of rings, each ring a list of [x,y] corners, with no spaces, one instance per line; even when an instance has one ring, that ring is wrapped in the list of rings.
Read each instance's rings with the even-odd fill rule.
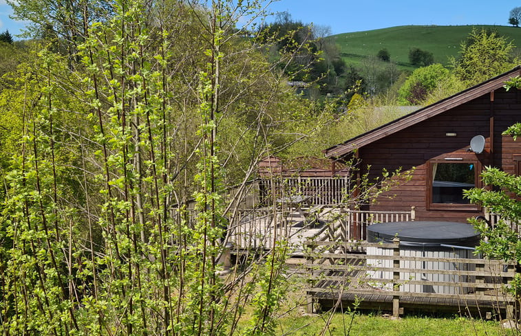
[[[467,85],[476,85],[513,68],[514,45],[496,31],[472,30],[460,45],[460,58],[451,59],[454,74]]]

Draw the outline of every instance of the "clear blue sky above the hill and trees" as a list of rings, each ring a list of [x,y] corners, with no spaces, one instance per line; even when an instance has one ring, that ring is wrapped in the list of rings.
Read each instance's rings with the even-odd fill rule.
[[[515,1],[485,0],[281,0],[270,8],[288,11],[293,19],[331,28],[332,34],[373,30],[395,25],[508,25]],[[20,34],[24,23],[9,18],[0,0],[0,32]]]

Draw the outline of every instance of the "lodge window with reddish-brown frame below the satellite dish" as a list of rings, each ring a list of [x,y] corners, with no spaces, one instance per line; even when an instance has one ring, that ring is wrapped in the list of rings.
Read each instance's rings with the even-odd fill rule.
[[[463,197],[463,190],[474,188],[478,177],[476,162],[434,161],[430,163],[429,203],[432,209],[476,209]]]

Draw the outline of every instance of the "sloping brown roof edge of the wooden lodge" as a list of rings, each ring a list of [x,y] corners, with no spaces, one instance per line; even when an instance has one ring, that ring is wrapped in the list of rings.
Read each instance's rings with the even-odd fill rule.
[[[422,109],[418,109],[412,113],[404,115],[403,117],[399,117],[392,122],[374,128],[372,131],[353,137],[346,142],[327,148],[323,150],[323,153],[325,153],[326,157],[329,158],[341,157],[352,152],[354,149],[361,148],[367,144],[382,139],[383,137],[387,137],[387,135],[401,131],[404,128],[418,124],[418,122],[423,122],[430,117],[434,117],[435,115],[448,111],[449,109],[458,107],[470,100],[490,93],[491,91],[500,89],[503,87],[506,80],[520,75],[521,66],[517,66],[504,74],[486,80],[474,87],[470,87],[469,89],[465,89],[453,96],[435,102],[434,104],[430,104],[427,107],[423,107]]]

